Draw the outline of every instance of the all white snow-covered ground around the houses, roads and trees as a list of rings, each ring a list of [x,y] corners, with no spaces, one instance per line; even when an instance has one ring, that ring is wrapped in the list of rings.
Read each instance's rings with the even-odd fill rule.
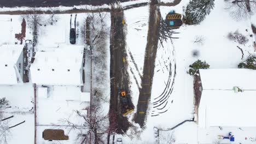
[[[162,2],[169,1],[163,0]],[[182,14],[183,7],[187,5],[188,2],[189,0],[183,0],[175,7],[160,7],[162,17],[165,17],[170,10],[176,10],[177,13]],[[124,3],[123,6],[125,4],[129,3]],[[106,5],[102,7],[106,7]],[[147,43],[149,7],[145,6],[125,10],[124,15],[127,29],[127,50],[132,53],[138,71],[130,55],[128,55],[129,67],[135,73],[135,77],[140,84],[141,80],[139,74],[142,74],[144,52]],[[87,14],[77,15],[77,44],[84,44],[83,33],[86,16]],[[55,25],[42,26],[40,28],[38,47],[44,45],[57,48],[59,45],[69,45],[70,15],[62,14],[56,15],[56,17],[58,22],[56,22]],[[251,19],[236,21],[232,19],[229,12],[225,9],[224,1],[215,1],[214,9],[210,15],[206,16],[206,19],[201,22],[200,25],[183,25],[181,28],[176,29],[175,32],[179,32],[179,34],[174,34],[173,36],[179,39],[173,39],[173,44],[171,41],[168,41],[164,44],[164,48],[159,47],[158,49],[152,98],[149,105],[146,128],[139,132],[139,136],[136,130],[131,128],[127,135],[123,136],[123,143],[154,143],[154,127],[167,130],[184,120],[193,118],[193,77],[187,74],[189,65],[197,59],[201,59],[210,64],[210,68],[237,68],[239,62],[244,61],[248,55],[255,54],[253,47],[254,39],[249,37],[249,35],[252,34],[251,23],[254,23],[254,17],[255,15],[252,16]],[[109,15],[107,19],[107,25],[109,26]],[[20,16],[1,15],[0,25],[2,26],[0,44],[19,43],[19,41],[15,39],[14,34],[21,32]],[[237,30],[243,35],[246,35],[249,39],[247,44],[240,45],[228,39],[228,33]],[[27,28],[25,39],[31,39],[31,36],[31,30]],[[196,37],[202,38],[201,44],[194,43]],[[109,38],[106,47],[109,47],[108,44]],[[241,59],[242,53],[237,46],[241,47],[245,53],[243,59]],[[198,51],[198,56],[192,55],[195,50]],[[109,59],[109,55],[107,59]],[[109,66],[109,61],[107,62],[107,66]],[[176,73],[174,73],[174,71],[176,71]],[[109,73],[105,74],[109,75]],[[130,77],[132,101],[136,105],[139,91],[131,72]],[[106,87],[109,87],[109,81],[107,80],[106,82],[108,82]],[[168,86],[167,90],[165,90],[166,86]],[[17,141],[28,144],[33,143],[34,115],[31,112],[33,107],[31,101],[33,101],[34,95],[32,83],[18,86],[0,86],[0,91],[0,98],[6,97],[12,106],[10,109],[4,111],[6,116],[14,115],[14,118],[10,119],[10,125],[14,125],[20,121],[26,121],[18,127],[11,129],[11,140],[9,143],[17,143]],[[109,97],[109,89],[104,88],[103,91],[106,93],[106,96]],[[162,92],[166,93],[165,97],[162,97]],[[69,135],[71,139],[63,141],[63,143],[74,142],[77,132],[74,130],[69,132],[70,128],[64,128],[66,123],[63,122],[63,119],[67,118],[76,124],[82,124],[82,120],[75,116],[75,110],[85,112],[83,109],[89,106],[89,103],[82,103],[79,99],[80,88],[66,86],[50,87],[48,98],[38,98],[37,140],[39,143],[47,142],[42,139],[42,131],[48,128],[65,129],[65,134]],[[163,103],[159,103],[159,99],[162,99]],[[105,109],[107,112],[108,103],[104,103],[103,107],[107,107],[107,109]],[[135,111],[129,116],[130,120]],[[59,126],[52,126],[53,124]],[[26,133],[24,133],[24,131],[26,131]],[[256,137],[254,135],[256,133],[255,128],[223,127],[223,130],[220,130],[218,127],[213,127],[201,129],[197,127],[195,122],[184,123],[170,132],[174,135],[176,143],[194,144],[212,143],[217,140],[218,135],[226,136],[229,131],[232,131],[233,135],[235,135],[236,142],[252,143],[252,139],[250,140],[249,138]],[[161,131],[160,134],[164,135],[164,133],[164,131]],[[129,137],[131,135],[132,137]],[[117,137],[121,136],[119,135]],[[247,140],[245,139],[246,137]],[[221,142],[229,143],[227,140]]]

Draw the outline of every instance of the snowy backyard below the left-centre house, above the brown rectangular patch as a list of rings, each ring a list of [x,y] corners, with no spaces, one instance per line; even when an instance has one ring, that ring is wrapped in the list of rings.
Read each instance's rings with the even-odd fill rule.
[[[75,111],[89,106],[89,103],[80,101],[80,87],[54,86],[48,91],[48,98],[37,99],[38,125],[56,125],[63,119],[70,119],[76,123]]]

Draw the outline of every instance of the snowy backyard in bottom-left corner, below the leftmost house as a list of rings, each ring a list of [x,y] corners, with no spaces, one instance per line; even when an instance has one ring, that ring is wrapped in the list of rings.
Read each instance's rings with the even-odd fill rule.
[[[8,143],[18,142],[32,144],[34,142],[33,86],[26,83],[18,86],[0,86],[0,98],[5,97],[11,108],[3,110],[4,118],[10,118],[8,127],[25,121],[10,129]]]

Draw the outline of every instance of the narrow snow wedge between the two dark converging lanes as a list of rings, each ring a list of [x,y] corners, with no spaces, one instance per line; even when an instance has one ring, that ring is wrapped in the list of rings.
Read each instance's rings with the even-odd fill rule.
[[[148,33],[148,6],[134,8],[124,11],[126,20],[126,49],[129,61],[129,75],[131,78],[131,97],[132,103],[137,104],[139,89],[136,85],[136,81],[133,78],[136,77],[138,85],[141,85],[141,77],[143,74],[144,55],[147,45],[147,33]],[[140,11],[140,12],[138,12]],[[135,16],[136,15],[136,16]],[[133,57],[133,59],[132,59]],[[134,62],[133,62],[134,60]],[[137,67],[137,68],[136,68]],[[130,71],[132,69],[132,72]],[[133,74],[132,74],[133,73]],[[129,114],[130,120],[133,117],[135,110]]]

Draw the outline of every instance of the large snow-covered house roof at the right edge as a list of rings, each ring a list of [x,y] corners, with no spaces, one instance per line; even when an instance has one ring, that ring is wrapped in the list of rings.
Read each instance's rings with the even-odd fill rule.
[[[256,127],[256,70],[200,69],[199,126]],[[235,92],[240,87],[243,92]]]

